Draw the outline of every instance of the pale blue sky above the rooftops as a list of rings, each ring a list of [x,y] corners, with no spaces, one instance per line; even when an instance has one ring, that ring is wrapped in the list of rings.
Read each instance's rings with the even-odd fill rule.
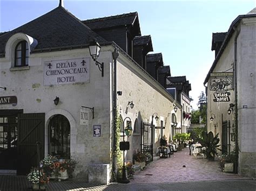
[[[28,23],[58,6],[58,0],[0,0],[0,31]],[[226,32],[238,15],[256,6],[255,0],[217,1],[71,1],[64,7],[81,20],[137,11],[142,35],[151,35],[153,53],[163,54],[172,76],[190,81],[197,109],[198,96],[214,61],[212,33]],[[61,32],[61,31],[60,31]]]

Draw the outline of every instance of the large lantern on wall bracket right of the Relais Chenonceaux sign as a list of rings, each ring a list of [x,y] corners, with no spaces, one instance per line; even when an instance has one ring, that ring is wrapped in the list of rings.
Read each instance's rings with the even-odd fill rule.
[[[99,53],[100,53],[100,48],[102,48],[102,47],[99,46],[99,44],[97,43],[96,40],[92,41],[89,45],[90,55],[91,55],[93,61],[95,61],[96,66],[98,66],[100,72],[102,72],[102,77],[103,77],[104,76],[104,62],[100,63],[97,61],[97,59],[99,57]]]

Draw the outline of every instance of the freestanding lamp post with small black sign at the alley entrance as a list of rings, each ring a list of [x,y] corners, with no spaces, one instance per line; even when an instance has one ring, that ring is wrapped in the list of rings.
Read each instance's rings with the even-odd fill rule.
[[[124,128],[125,119],[128,119],[127,126]],[[125,117],[123,121],[123,142],[120,142],[120,150],[123,151],[123,169],[122,169],[122,180],[121,183],[129,183],[130,180],[126,178],[126,168],[125,168],[125,151],[130,149],[130,143],[124,141],[124,137],[132,135],[132,127],[131,127],[131,118]]]

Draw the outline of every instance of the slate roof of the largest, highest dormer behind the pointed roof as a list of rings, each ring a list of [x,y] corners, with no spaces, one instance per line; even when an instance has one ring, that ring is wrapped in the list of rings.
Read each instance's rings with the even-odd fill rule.
[[[116,26],[133,25],[138,18],[137,12],[125,13],[122,15],[102,17],[96,19],[83,20],[82,22],[89,26],[92,30],[105,29]]]

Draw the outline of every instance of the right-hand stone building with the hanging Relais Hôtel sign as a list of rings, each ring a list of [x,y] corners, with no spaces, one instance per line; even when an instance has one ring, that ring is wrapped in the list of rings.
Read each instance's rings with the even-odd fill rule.
[[[207,84],[207,129],[219,133],[222,153],[237,148],[238,173],[255,177],[256,9],[213,33],[215,60]]]

